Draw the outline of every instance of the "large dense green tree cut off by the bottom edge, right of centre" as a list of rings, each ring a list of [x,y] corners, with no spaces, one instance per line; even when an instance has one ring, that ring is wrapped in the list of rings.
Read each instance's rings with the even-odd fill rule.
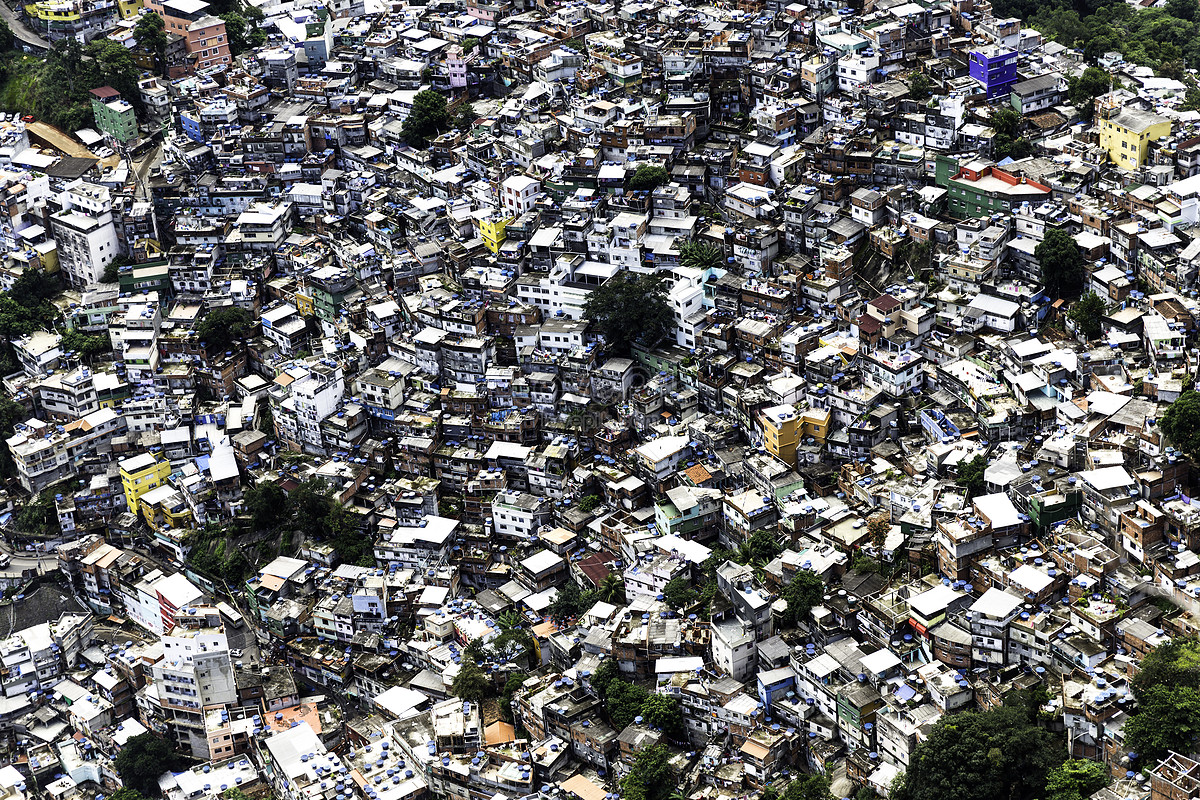
[[[943,717],[917,745],[894,800],[1034,800],[1063,762],[1054,736],[1021,709]]]

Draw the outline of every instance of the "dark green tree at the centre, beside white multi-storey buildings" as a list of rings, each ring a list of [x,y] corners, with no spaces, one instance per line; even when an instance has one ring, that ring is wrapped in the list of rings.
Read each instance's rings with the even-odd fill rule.
[[[674,330],[661,275],[614,275],[588,295],[583,317],[604,333],[614,355],[629,355],[635,343],[654,347]]]

